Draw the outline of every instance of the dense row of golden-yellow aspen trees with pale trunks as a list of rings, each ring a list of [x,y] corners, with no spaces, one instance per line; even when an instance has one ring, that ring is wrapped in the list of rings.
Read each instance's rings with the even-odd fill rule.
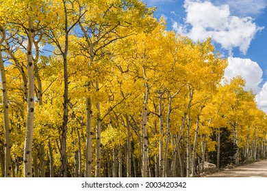
[[[210,39],[166,31],[153,11],[1,1],[2,177],[190,177],[266,157],[244,80],[223,78]]]

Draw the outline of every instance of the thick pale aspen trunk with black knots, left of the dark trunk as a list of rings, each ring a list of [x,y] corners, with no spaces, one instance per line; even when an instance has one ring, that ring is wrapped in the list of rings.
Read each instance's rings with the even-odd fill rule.
[[[31,170],[31,146],[34,128],[34,63],[32,59],[32,46],[34,40],[34,26],[31,18],[28,19],[29,32],[27,42],[27,72],[28,72],[28,99],[27,99],[27,122],[25,132],[25,145],[23,155],[23,173],[24,177],[32,177]]]

